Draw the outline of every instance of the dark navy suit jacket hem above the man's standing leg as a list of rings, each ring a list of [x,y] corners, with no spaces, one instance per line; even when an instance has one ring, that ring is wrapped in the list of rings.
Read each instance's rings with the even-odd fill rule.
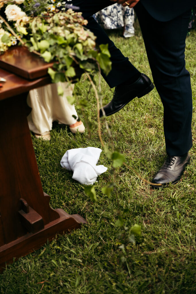
[[[196,0],[140,0],[148,13],[159,21],[169,21],[196,5]]]

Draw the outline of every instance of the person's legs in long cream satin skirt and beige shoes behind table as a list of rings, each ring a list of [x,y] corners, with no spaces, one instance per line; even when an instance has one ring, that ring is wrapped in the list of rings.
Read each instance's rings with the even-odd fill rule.
[[[63,88],[63,96],[58,95],[57,88]],[[58,82],[29,91],[27,104],[32,108],[27,117],[29,129],[36,138],[50,140],[50,131],[53,121],[68,125],[72,133],[84,133],[85,127],[78,121],[74,104],[67,101],[67,96],[72,97],[73,84]]]

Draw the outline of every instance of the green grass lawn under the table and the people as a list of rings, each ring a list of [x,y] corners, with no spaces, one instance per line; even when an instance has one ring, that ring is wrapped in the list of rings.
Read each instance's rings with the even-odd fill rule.
[[[129,39],[123,39],[119,31],[109,34],[123,54],[152,78],[140,29],[137,27],[136,36]],[[98,177],[95,185],[97,203],[90,200],[83,185],[74,181],[72,173],[60,165],[68,149],[102,148],[96,99],[83,76],[74,93],[78,100],[88,101],[82,120],[88,118],[91,129],[84,135],[73,135],[67,126],[54,124],[50,142],[33,136],[32,140],[43,190],[51,196],[51,206],[70,214],[79,213],[88,223],[8,265],[0,277],[1,293],[196,293],[195,37],[196,31],[192,31],[186,47],[186,66],[193,91],[193,148],[191,164],[181,181],[164,189],[153,189],[122,166],[117,168],[119,177],[108,197],[101,188],[113,181],[112,162],[102,152],[99,164],[107,166],[108,171]],[[103,79],[101,86],[107,103],[113,90]],[[125,163],[151,180],[166,156],[163,106],[157,91],[135,98],[107,120],[113,144],[124,154]],[[103,141],[111,148],[103,121],[101,124]],[[119,213],[123,220],[121,227],[115,225]],[[141,236],[135,235],[135,243],[131,232],[134,224],[141,226]]]

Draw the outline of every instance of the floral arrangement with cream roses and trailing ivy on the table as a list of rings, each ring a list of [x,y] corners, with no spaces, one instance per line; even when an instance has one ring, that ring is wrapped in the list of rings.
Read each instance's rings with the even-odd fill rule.
[[[56,61],[48,69],[53,82],[72,79],[73,64],[84,71],[111,69],[107,45],[96,47],[96,37],[84,26],[79,7],[71,0],[0,0],[0,53],[10,46],[26,46],[46,62]]]

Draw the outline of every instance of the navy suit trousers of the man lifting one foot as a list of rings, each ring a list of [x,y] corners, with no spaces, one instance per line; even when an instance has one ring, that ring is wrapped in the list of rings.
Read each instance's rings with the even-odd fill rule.
[[[83,17],[88,19],[88,28],[97,36],[97,43],[109,44],[112,70],[108,76],[103,74],[108,85],[112,88],[138,75],[138,70],[90,17],[113,3],[109,0],[72,0],[72,3],[79,6]],[[192,91],[190,74],[185,68],[185,40],[190,11],[165,22],[150,16],[140,2],[135,11],[153,80],[163,103],[166,151],[168,155],[180,156],[192,147]]]

